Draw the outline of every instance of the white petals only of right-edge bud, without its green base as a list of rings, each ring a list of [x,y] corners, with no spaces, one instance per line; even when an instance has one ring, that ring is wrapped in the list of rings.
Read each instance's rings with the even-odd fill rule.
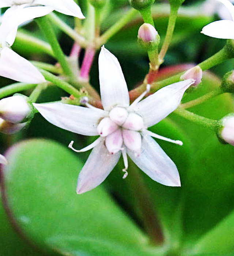
[[[222,120],[223,129],[221,131],[221,138],[225,142],[234,146],[234,115],[224,117]]]

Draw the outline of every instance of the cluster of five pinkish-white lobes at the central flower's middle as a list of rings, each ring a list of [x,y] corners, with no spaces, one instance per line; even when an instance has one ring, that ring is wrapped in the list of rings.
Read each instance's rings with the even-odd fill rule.
[[[141,129],[144,128],[143,118],[136,113],[128,112],[126,108],[115,107],[109,112],[109,117],[103,118],[97,130],[101,137],[106,137],[106,148],[111,154],[124,149],[140,154]]]

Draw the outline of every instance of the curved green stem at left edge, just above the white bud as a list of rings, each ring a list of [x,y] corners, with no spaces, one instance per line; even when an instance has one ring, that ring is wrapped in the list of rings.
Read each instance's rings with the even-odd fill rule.
[[[0,99],[18,93],[20,91],[30,90],[37,86],[37,84],[28,84],[28,83],[14,83],[8,86],[5,86],[0,89]]]

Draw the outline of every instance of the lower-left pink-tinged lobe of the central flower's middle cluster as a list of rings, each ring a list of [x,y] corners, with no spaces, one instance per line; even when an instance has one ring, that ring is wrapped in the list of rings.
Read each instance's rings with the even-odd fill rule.
[[[105,144],[110,154],[116,154],[118,151],[120,151],[123,144],[121,129],[118,129],[110,135],[106,136]]]

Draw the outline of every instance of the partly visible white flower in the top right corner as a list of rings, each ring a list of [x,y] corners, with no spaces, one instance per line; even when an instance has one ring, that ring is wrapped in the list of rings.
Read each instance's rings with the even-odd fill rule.
[[[229,10],[232,20],[218,20],[203,27],[201,33],[210,37],[234,39],[234,6],[229,0],[218,0]]]

